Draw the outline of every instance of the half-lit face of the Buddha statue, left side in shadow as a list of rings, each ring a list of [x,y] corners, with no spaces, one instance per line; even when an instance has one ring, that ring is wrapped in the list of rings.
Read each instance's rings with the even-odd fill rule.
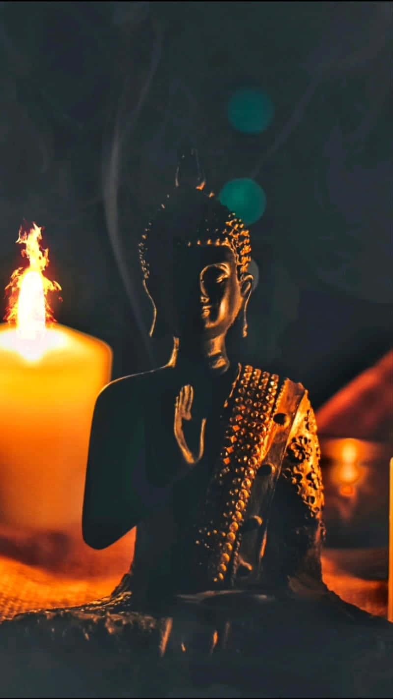
[[[177,333],[188,342],[225,336],[251,293],[251,275],[237,277],[227,245],[187,247],[177,258]]]

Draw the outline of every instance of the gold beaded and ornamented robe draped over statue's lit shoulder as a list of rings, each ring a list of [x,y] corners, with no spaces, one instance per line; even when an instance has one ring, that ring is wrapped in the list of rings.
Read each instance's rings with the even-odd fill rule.
[[[203,524],[195,535],[198,577],[207,574],[213,588],[233,582],[244,524],[249,526],[251,519],[260,524],[261,550],[257,559],[263,556],[263,535],[266,538],[269,508],[280,475],[295,486],[297,497],[306,506],[306,518],[320,517],[323,505],[316,424],[301,384],[280,382],[277,375],[239,366],[227,406],[228,403],[232,404],[232,410],[223,448],[207,491]],[[288,410],[289,405],[293,412]],[[277,439],[278,432],[281,441]],[[265,461],[267,455],[272,456],[269,462]],[[259,498],[258,514],[253,514],[258,472],[266,483],[263,502]],[[248,567],[253,568],[250,564]]]

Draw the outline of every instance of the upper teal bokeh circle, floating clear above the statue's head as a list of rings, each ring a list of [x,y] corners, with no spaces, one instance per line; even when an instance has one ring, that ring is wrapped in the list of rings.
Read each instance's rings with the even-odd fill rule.
[[[274,104],[259,87],[241,87],[228,102],[228,120],[242,134],[260,134],[274,117]]]

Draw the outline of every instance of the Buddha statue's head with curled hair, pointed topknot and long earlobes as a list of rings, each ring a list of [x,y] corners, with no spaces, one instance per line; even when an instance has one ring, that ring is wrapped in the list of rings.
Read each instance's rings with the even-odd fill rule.
[[[195,150],[189,155],[198,166]],[[158,329],[179,338],[180,347],[209,346],[212,351],[238,319],[246,334],[253,282],[250,236],[235,214],[213,194],[205,194],[199,167],[194,182],[182,177],[187,166],[189,171],[182,157],[175,192],[142,235],[140,261],[154,305],[151,334]]]

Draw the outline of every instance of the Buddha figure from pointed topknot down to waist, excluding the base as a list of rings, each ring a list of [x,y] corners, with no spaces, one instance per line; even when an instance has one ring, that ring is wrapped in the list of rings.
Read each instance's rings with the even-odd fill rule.
[[[174,349],[165,366],[113,381],[96,402],[84,540],[102,549],[137,527],[110,604],[324,588],[313,409],[302,384],[237,356],[250,233],[205,192],[194,150],[142,235],[140,261],[151,333],[171,333]]]

